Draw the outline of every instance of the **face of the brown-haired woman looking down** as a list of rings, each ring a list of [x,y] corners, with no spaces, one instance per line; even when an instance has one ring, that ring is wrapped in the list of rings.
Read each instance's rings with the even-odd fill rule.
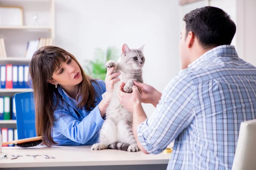
[[[66,54],[64,54],[64,57],[66,57],[66,62],[61,62],[60,67],[56,68],[52,75],[52,80],[55,81],[55,83],[51,83],[59,84],[63,88],[69,88],[78,85],[83,80],[83,77],[76,61]]]

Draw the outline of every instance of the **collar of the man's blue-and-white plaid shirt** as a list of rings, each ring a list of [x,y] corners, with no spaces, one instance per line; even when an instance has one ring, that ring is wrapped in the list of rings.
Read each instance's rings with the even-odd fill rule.
[[[193,61],[188,65],[188,67],[191,67],[195,65],[198,62],[201,62],[205,59],[209,59],[211,57],[215,56],[223,56],[223,57],[238,57],[236,48],[233,45],[220,45],[215,48],[212,48],[211,50],[207,51],[203,55],[201,55],[198,59]]]

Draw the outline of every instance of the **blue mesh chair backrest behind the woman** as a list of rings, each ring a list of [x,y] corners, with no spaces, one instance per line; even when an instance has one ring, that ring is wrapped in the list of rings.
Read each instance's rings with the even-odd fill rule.
[[[15,98],[18,139],[35,137],[35,101],[33,92],[17,93]]]

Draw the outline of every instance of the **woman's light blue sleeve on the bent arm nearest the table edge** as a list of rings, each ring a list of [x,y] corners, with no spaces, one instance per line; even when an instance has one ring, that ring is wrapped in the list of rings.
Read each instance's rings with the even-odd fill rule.
[[[54,118],[59,133],[81,144],[88,142],[99,131],[104,122],[98,106],[82,121],[73,118],[65,109],[55,110]]]

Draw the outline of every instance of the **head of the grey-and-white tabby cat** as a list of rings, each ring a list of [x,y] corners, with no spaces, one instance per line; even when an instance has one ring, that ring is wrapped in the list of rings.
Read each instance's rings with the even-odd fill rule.
[[[145,63],[143,48],[144,45],[139,49],[130,49],[128,45],[124,44],[122,46],[122,55],[120,58],[122,63],[125,64],[125,66],[129,66],[133,70],[142,69]]]

